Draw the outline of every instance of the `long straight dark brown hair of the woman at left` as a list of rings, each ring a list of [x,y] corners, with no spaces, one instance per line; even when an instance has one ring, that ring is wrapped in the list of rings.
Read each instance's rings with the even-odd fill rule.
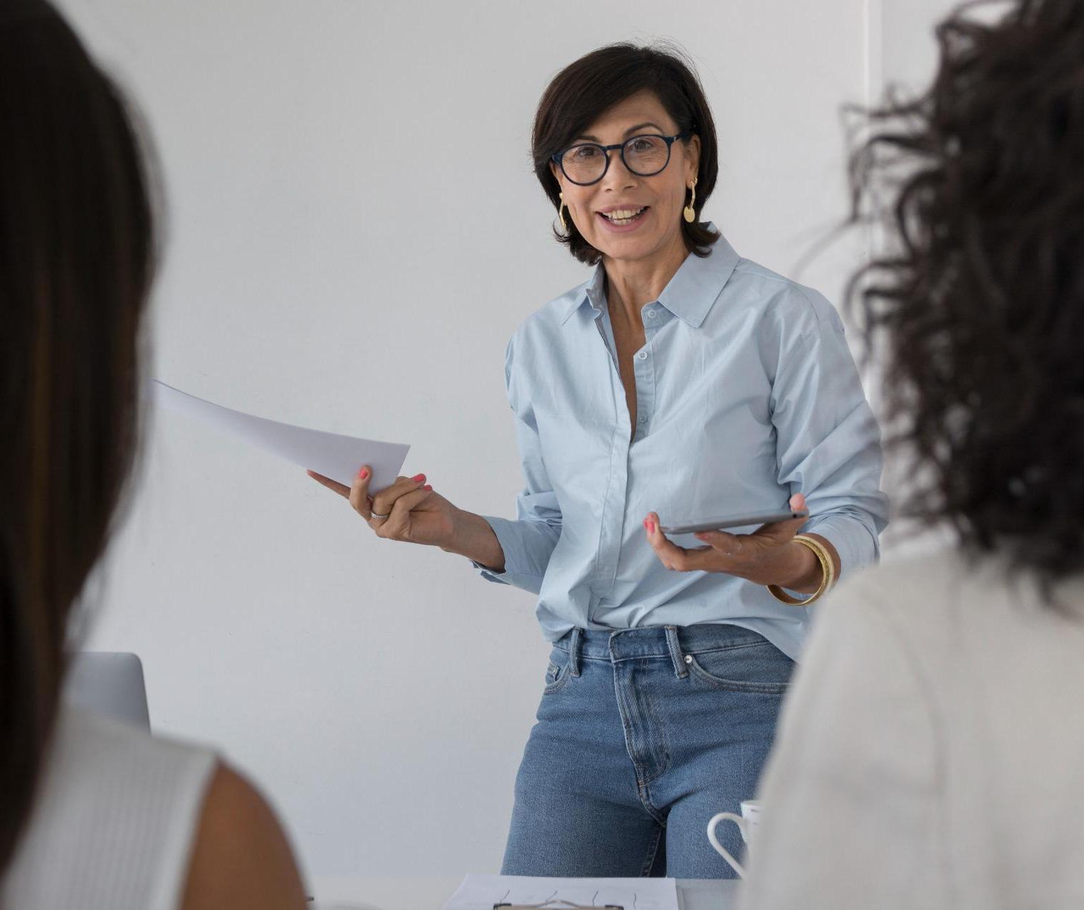
[[[0,877],[52,733],[68,614],[138,441],[151,183],[124,99],[46,0],[0,3]]]

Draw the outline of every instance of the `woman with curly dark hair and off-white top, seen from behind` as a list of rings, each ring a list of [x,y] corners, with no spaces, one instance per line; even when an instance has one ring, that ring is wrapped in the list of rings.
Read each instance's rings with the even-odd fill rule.
[[[958,547],[820,618],[745,908],[1084,906],[1084,3],[938,39],[853,185],[859,216],[901,177],[861,299],[909,511]]]

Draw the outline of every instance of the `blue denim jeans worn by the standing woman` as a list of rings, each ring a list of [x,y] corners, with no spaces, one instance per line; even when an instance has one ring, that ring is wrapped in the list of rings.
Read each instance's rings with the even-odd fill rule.
[[[733,877],[708,820],[756,795],[793,661],[715,624],[576,628],[550,661],[502,872]]]

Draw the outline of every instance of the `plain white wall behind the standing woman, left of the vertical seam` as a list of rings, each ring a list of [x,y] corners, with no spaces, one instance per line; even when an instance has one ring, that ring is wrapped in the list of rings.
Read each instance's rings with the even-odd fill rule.
[[[609,41],[679,40],[720,128],[707,212],[793,274],[844,210],[866,5],[67,0],[162,154],[155,373],[410,442],[408,473],[511,515],[504,344],[585,277],[530,169],[547,80]],[[862,248],[799,277],[838,297]],[[301,471],[182,417],[146,455],[90,644],[142,655],[156,728],[246,768],[314,874],[495,870],[545,668],[531,597],[374,538]]]

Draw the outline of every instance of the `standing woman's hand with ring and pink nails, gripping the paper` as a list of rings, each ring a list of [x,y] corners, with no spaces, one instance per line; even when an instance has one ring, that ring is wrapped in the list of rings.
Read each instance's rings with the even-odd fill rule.
[[[377,537],[412,544],[444,546],[455,533],[455,506],[425,482],[425,474],[400,477],[390,486],[371,493],[372,469],[365,465],[350,486],[308,471],[309,477],[348,499]],[[386,515],[387,518],[374,518]]]

